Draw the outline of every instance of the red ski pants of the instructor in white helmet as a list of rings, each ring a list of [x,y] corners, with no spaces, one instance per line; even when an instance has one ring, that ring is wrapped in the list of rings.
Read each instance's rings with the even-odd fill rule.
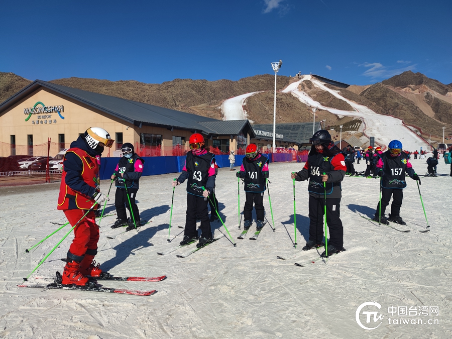
[[[77,223],[78,220],[86,213],[83,209],[66,209],[64,214],[66,215],[69,223],[72,227]],[[86,250],[96,250],[97,242],[99,240],[99,227],[95,221],[94,211],[90,211],[81,220],[77,227],[74,229],[74,240],[69,248],[69,252],[74,257],[81,257],[86,253]],[[77,260],[81,261],[81,260]]]

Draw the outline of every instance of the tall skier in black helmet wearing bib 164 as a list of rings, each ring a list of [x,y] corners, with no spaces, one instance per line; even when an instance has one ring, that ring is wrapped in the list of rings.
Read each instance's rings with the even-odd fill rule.
[[[292,179],[296,181],[309,179],[309,240],[303,247],[303,251],[324,246],[323,217],[326,201],[326,224],[329,229],[328,255],[330,255],[344,250],[340,203],[341,181],[344,179],[347,167],[344,155],[331,141],[328,131],[315,132],[309,139],[309,143],[312,146],[306,164],[298,173],[292,173]],[[326,257],[326,251],[321,256]]]

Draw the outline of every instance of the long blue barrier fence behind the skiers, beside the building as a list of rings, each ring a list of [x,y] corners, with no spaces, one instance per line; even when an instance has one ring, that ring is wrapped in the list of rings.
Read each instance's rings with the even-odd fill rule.
[[[284,154],[277,154],[278,156]],[[289,155],[289,154],[287,154]],[[265,156],[265,155],[264,155]],[[235,166],[240,166],[242,164],[242,160],[244,155],[236,155]],[[290,154],[290,157],[292,155]],[[290,160],[282,160],[283,157],[278,157],[281,160],[277,161],[292,161]],[[109,179],[111,174],[115,171],[116,166],[121,158],[101,158],[100,159],[100,179]],[[158,175],[158,174],[166,174],[166,173],[178,173],[182,172],[182,168],[185,164],[185,156],[183,157],[143,157],[145,161],[143,175]],[[285,159],[285,158],[284,158]],[[215,155],[215,161],[218,167],[229,167],[229,155]],[[271,161],[271,159],[270,159]]]

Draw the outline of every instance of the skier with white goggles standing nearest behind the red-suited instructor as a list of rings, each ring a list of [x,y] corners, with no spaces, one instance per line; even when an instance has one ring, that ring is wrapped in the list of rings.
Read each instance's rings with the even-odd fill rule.
[[[128,224],[126,231],[131,231],[135,229],[135,225],[137,227],[141,226],[140,211],[135,203],[135,199],[145,161],[135,153],[134,145],[131,143],[123,144],[121,152],[124,156],[120,159],[115,172],[111,175],[111,179],[116,178],[115,207],[118,215],[118,219],[111,228],[116,229]],[[131,206],[129,206],[129,202]],[[130,213],[129,222],[127,221],[126,207]]]

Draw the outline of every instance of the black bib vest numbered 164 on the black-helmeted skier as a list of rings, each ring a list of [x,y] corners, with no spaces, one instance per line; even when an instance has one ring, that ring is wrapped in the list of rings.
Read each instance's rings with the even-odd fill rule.
[[[331,194],[334,188],[332,182],[325,182],[325,188],[323,188],[322,175],[326,172],[334,170],[334,166],[331,165],[331,160],[335,156],[325,157],[321,153],[313,154],[308,157],[309,164],[309,185],[308,191],[316,194]],[[341,184],[337,184],[337,187],[341,189]]]

